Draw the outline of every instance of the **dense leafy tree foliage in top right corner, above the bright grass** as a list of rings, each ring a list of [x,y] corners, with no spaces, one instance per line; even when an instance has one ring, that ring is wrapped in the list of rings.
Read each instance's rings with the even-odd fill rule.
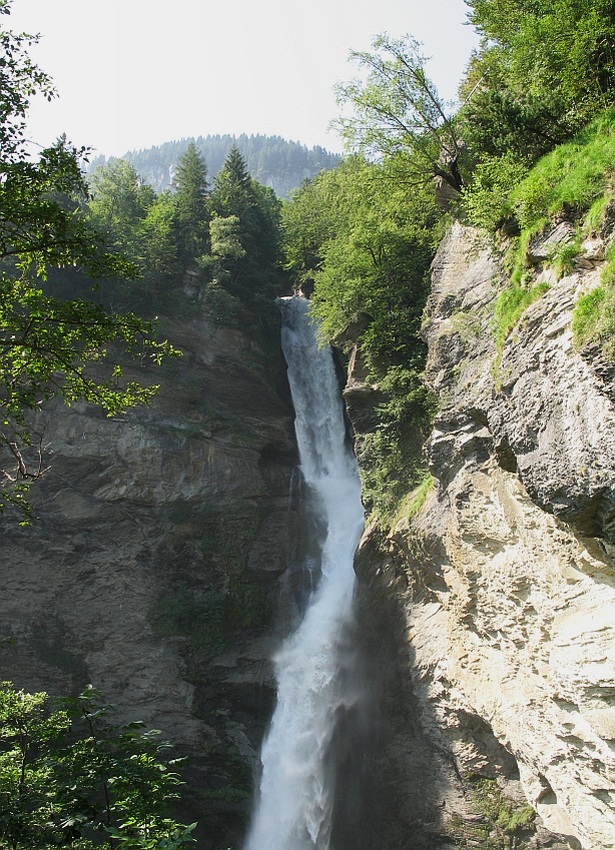
[[[615,102],[611,0],[471,0],[483,35],[461,87],[480,155],[535,161]]]

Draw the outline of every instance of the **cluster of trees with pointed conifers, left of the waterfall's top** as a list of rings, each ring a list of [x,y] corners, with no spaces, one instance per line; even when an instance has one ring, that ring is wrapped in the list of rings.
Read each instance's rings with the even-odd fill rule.
[[[273,298],[284,290],[280,270],[280,207],[273,191],[251,177],[236,147],[209,187],[200,150],[188,143],[170,191],[156,195],[126,160],[92,177],[90,220],[121,247],[138,277],[108,281],[113,303],[151,314],[204,309],[228,326],[271,324]],[[108,303],[108,302],[107,302]]]

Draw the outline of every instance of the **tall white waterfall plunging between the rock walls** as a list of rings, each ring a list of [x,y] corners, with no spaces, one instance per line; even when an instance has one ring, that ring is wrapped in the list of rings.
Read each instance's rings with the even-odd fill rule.
[[[300,467],[324,531],[318,585],[297,630],[274,658],[277,705],[263,743],[244,850],[328,850],[332,741],[338,714],[352,700],[339,674],[353,617],[353,558],[363,508],[331,351],[317,345],[309,302],[281,300]]]

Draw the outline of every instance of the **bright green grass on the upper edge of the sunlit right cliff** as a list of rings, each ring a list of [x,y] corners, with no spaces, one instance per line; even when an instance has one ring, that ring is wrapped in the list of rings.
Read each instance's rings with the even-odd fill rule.
[[[499,161],[498,161],[499,162]],[[513,241],[507,261],[511,286],[496,302],[494,334],[499,349],[527,307],[546,290],[546,284],[531,285],[528,246],[531,240],[555,222],[575,224],[577,234],[569,243],[553,250],[551,263],[558,275],[574,268],[582,238],[605,230],[613,217],[615,191],[615,110],[595,119],[570,142],[542,157],[525,172],[522,164],[502,161],[486,163],[464,200],[470,220],[478,226],[495,226],[514,217],[519,236]],[[603,354],[615,359],[615,246],[607,254],[601,286],[580,299],[573,317],[578,346],[598,342]]]

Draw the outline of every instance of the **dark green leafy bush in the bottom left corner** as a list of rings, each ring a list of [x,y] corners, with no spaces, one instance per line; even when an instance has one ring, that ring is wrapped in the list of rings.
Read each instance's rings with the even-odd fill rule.
[[[0,687],[0,844],[175,850],[194,824],[169,817],[181,785],[169,747],[142,723],[110,722],[88,688],[71,699]]]

